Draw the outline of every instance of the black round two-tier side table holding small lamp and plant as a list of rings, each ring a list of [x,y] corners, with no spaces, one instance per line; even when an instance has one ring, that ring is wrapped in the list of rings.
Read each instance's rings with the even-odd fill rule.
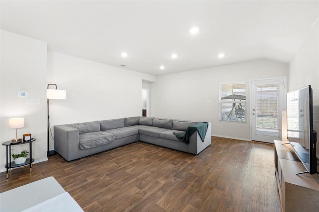
[[[32,158],[32,142],[33,141],[35,141],[34,138],[32,138],[30,141],[21,141],[19,143],[11,143],[11,141],[6,141],[6,142],[2,143],[2,145],[6,146],[6,165],[4,166],[6,168],[6,179],[8,179],[8,169],[10,169],[10,172],[11,172],[11,168],[25,166],[25,165],[29,164],[30,165],[30,173],[32,172],[32,162],[34,161],[34,159]],[[29,152],[30,157],[27,158],[25,160],[25,162],[21,163],[21,164],[15,164],[14,161],[11,162],[11,146],[20,145],[20,144],[24,144],[24,143],[29,143],[29,145],[30,145],[30,152]]]

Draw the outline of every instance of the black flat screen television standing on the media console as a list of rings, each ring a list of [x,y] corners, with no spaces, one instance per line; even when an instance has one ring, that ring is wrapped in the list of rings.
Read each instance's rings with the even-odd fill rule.
[[[287,93],[287,139],[307,169],[302,173],[318,173],[311,85]]]

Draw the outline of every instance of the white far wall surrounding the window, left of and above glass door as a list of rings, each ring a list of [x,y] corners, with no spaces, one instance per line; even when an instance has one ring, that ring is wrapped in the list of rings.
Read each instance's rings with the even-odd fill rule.
[[[287,76],[288,64],[254,60],[196,71],[158,76],[151,84],[152,116],[208,121],[215,136],[250,139],[250,113],[247,123],[219,121],[219,83],[247,81],[247,111],[250,111],[250,79]],[[222,125],[223,129],[219,129]]]

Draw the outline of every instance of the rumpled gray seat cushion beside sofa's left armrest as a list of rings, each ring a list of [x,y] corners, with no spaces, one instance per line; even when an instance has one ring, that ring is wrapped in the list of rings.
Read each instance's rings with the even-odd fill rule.
[[[79,149],[89,149],[101,146],[115,140],[115,136],[108,132],[84,133],[79,136]]]

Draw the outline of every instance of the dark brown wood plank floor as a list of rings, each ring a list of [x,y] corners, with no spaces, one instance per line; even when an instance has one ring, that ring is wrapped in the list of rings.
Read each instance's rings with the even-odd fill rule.
[[[86,212],[279,212],[273,145],[212,137],[199,155],[136,142],[0,174],[0,192],[53,176]]]

